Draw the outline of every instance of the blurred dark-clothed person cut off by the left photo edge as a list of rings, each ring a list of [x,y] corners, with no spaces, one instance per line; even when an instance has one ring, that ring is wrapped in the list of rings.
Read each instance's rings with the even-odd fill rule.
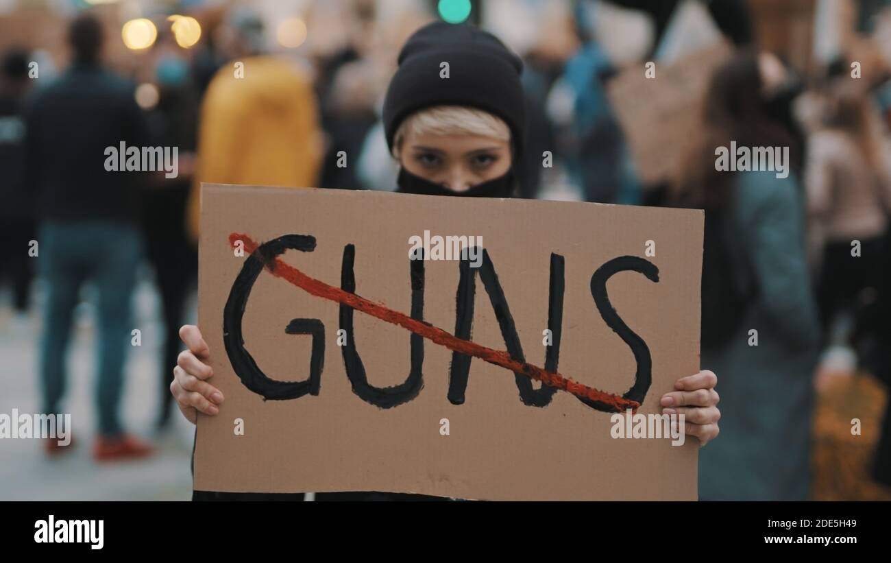
[[[0,280],[12,282],[12,306],[28,308],[32,268],[29,241],[34,239],[34,198],[25,185],[24,100],[31,86],[29,53],[10,49],[0,60]]]

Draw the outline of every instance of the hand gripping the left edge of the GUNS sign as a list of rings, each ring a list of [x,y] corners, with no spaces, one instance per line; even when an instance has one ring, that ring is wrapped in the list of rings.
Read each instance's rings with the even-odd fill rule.
[[[170,393],[183,416],[194,424],[199,411],[211,415],[219,412],[218,405],[223,403],[223,393],[205,381],[214,371],[208,364],[208,343],[201,338],[198,327],[184,324],[179,329],[179,338],[187,349],[176,358]]]

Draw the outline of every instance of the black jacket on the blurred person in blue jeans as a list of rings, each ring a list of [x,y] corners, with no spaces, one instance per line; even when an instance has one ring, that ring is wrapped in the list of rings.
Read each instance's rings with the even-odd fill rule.
[[[150,146],[132,84],[76,62],[25,110],[25,181],[39,219],[138,219],[143,172],[109,172],[106,148]]]

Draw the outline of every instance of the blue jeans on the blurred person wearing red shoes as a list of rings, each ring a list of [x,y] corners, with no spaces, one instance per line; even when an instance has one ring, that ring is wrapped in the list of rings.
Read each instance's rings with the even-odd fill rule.
[[[38,265],[48,286],[40,348],[43,412],[60,412],[72,314],[81,285],[91,280],[99,298],[99,431],[104,436],[115,436],[122,431],[118,407],[124,355],[133,330],[130,300],[136,266],[143,253],[142,233],[135,224],[113,221],[47,222],[40,225],[37,242]]]

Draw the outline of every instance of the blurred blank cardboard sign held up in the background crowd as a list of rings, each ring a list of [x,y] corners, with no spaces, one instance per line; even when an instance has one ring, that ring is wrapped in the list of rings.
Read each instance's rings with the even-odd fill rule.
[[[702,123],[702,103],[712,73],[732,53],[720,42],[647,78],[643,65],[623,70],[607,84],[610,103],[631,145],[636,170],[646,184],[674,178]]]

